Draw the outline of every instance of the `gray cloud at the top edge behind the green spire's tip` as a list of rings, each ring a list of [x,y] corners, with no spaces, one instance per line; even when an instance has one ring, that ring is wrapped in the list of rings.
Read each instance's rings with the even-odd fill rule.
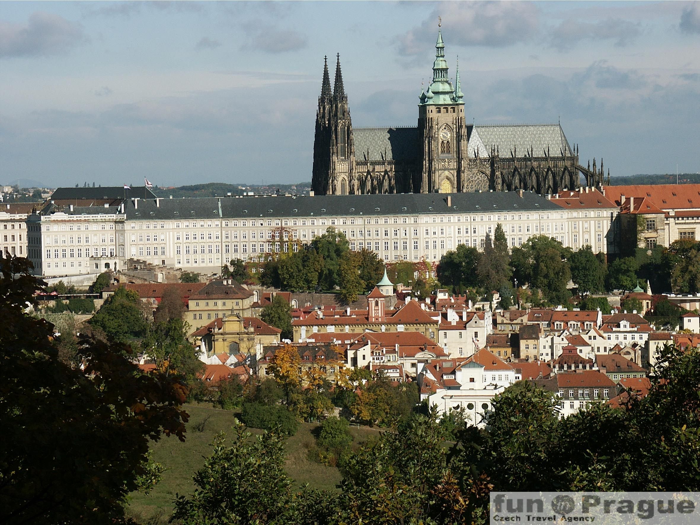
[[[435,43],[438,16],[445,40],[456,45],[512,45],[528,40],[539,25],[538,8],[529,2],[440,2],[420,27],[398,38],[401,55],[423,53]]]

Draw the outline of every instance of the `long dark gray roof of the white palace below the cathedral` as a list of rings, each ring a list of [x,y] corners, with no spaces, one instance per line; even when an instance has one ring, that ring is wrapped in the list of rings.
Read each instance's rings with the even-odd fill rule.
[[[503,211],[561,211],[561,207],[536,193],[452,193],[447,207],[444,193],[388,195],[316,195],[315,197],[198,197],[186,199],[129,200],[127,219],[191,218],[308,218],[324,216],[427,215],[493,213]]]

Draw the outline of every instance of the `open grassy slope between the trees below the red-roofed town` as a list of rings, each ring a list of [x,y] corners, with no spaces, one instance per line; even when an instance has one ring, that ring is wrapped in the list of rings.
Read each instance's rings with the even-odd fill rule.
[[[186,405],[190,414],[187,440],[179,442],[175,437],[163,438],[153,444],[153,460],[165,465],[160,484],[148,496],[132,493],[128,514],[141,524],[165,524],[173,509],[176,493],[189,494],[195,489],[193,474],[202,467],[211,454],[211,444],[220,432],[230,435],[234,412],[212,408],[210,405]],[[318,423],[302,423],[299,431],[287,441],[287,472],[299,485],[308,483],[315,489],[333,489],[340,482],[340,472],[309,461],[307,451],[314,447],[312,431]],[[251,428],[253,434],[260,430]],[[353,446],[365,442],[379,430],[368,427],[352,427]]]

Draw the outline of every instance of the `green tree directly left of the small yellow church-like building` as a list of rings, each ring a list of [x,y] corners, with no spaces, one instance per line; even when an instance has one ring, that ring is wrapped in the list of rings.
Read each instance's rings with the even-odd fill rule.
[[[141,342],[141,349],[155,360],[163,374],[178,374],[186,384],[194,384],[204,370],[200,351],[188,342],[190,325],[181,317],[154,323]]]

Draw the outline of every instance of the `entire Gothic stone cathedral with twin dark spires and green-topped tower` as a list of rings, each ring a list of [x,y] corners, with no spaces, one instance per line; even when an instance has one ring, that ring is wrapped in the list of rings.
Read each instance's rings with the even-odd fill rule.
[[[532,190],[558,193],[601,186],[598,172],[578,163],[559,124],[467,124],[457,66],[448,77],[442,33],[438,31],[433,81],[421,91],[417,127],[353,130],[340,58],[330,87],[328,62],[318,97],[314,169],[316,195],[368,193],[454,193]]]

